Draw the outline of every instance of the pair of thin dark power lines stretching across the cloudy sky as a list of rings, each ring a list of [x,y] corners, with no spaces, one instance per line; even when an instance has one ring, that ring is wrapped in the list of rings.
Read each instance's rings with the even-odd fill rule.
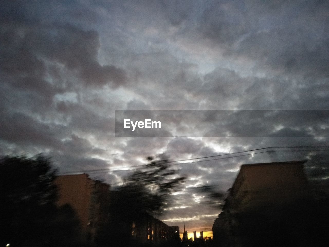
[[[259,149],[252,149],[252,150],[246,150],[246,151],[239,151],[239,152],[233,152],[233,153],[225,153],[225,154],[218,154],[218,155],[212,155],[212,156],[204,156],[204,157],[198,157],[198,158],[191,158],[191,159],[182,159],[182,160],[175,160],[175,161],[165,161],[165,162],[159,162],[158,164],[168,164],[168,163],[174,163],[174,162],[182,162],[182,161],[190,161],[195,159],[205,159],[205,158],[211,158],[211,157],[219,157],[224,155],[232,155],[232,154],[238,154],[238,153],[244,153],[244,152],[250,152],[250,151],[258,151],[258,150],[264,150],[264,149],[282,149],[282,148],[328,148],[329,146],[291,146],[291,147],[267,147],[267,148],[259,148]],[[249,153],[249,154],[243,154],[243,155],[236,155],[236,156],[230,156],[230,157],[224,157],[224,158],[216,158],[216,159],[208,159],[208,160],[198,160],[193,162],[187,162],[187,163],[177,163],[177,164],[170,164],[169,166],[173,165],[182,165],[182,164],[191,164],[191,163],[198,163],[198,162],[204,162],[204,161],[212,161],[212,160],[219,160],[219,159],[227,159],[227,158],[235,158],[235,157],[241,157],[241,156],[247,156],[247,155],[253,155],[258,153],[266,153],[266,152],[277,152],[277,151],[321,151],[321,150],[269,150],[269,151],[262,151],[262,152],[255,152],[255,153]],[[132,170],[141,170],[145,169],[144,165],[136,165],[136,166],[130,166],[130,167],[113,167],[113,168],[104,168],[104,169],[91,169],[91,170],[83,170],[83,171],[72,171],[72,172],[65,172],[65,173],[59,173],[59,175],[69,175],[69,174],[75,174],[75,173],[91,173],[91,174],[100,174],[100,173],[108,173],[111,170],[114,171],[122,171],[120,169],[126,169],[126,168],[134,168],[135,169],[129,169],[129,171]]]

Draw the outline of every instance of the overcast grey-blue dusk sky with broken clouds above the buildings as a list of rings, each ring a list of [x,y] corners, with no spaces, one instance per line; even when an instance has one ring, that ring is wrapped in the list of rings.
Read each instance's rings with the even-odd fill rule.
[[[211,116],[206,125],[171,119],[184,126],[168,128],[172,137],[115,137],[115,110],[329,110],[328,1],[35,0],[0,8],[0,155],[44,153],[61,173],[110,168],[90,176],[116,186],[147,156],[328,144],[328,115],[300,122],[276,112],[257,118],[274,129],[267,137],[184,134],[222,124]],[[238,133],[248,131],[243,124],[223,123]],[[328,152],[315,148],[172,166],[187,181],[158,218],[181,232],[183,219],[189,233],[211,231],[220,208],[197,187],[226,193],[241,164],[299,159],[310,177],[328,181]]]

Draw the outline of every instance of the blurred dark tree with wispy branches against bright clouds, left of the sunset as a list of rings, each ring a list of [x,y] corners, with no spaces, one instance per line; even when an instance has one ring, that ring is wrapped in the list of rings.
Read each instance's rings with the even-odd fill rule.
[[[110,222],[102,230],[107,234],[102,234],[103,241],[99,243],[115,242],[115,246],[132,244],[133,222],[138,224],[150,215],[161,214],[168,206],[170,194],[185,181],[185,177],[178,176],[175,170],[170,169],[167,160],[154,160],[153,157],[147,157],[147,160],[148,164],[126,177],[122,186],[111,191]]]

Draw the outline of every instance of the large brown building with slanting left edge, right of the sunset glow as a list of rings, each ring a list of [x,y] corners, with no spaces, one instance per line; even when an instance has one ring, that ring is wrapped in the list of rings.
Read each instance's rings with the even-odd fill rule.
[[[313,246],[303,242],[316,215],[304,163],[242,165],[214,222],[215,246]]]

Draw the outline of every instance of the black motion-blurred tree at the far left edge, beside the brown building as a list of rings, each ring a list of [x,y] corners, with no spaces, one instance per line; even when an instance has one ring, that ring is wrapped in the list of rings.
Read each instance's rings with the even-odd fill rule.
[[[55,173],[42,155],[0,160],[1,246],[50,245],[57,211]]]

